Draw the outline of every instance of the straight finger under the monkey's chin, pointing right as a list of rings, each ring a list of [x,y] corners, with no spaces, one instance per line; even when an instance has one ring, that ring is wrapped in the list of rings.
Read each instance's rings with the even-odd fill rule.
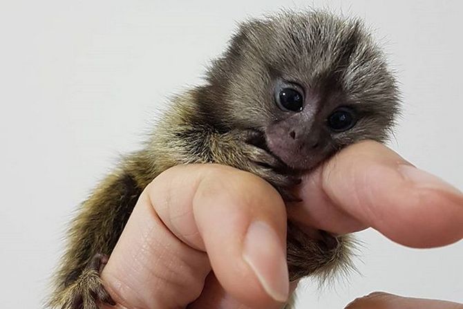
[[[303,180],[297,221],[339,234],[373,227],[410,247],[463,238],[463,194],[378,142],[354,144]]]

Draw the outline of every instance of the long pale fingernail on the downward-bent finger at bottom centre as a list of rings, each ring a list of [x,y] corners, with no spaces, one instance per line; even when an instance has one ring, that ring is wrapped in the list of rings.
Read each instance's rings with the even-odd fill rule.
[[[290,279],[286,248],[267,223],[255,221],[249,225],[243,246],[243,259],[272,299],[280,302],[287,300]]]

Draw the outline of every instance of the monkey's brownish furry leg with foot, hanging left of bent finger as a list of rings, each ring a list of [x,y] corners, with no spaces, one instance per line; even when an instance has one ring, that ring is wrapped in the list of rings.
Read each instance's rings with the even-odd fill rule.
[[[113,251],[142,189],[121,171],[111,174],[86,200],[68,232],[68,247],[55,277],[48,306],[60,309],[97,309],[111,303],[100,270]]]

